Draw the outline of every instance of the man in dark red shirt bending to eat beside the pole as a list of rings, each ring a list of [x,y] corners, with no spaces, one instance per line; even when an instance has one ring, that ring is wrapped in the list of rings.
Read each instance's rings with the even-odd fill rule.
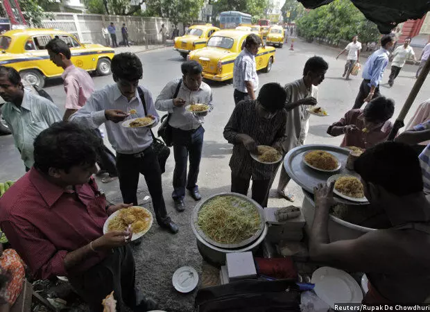
[[[345,135],[342,147],[370,148],[386,141],[393,129],[393,123],[389,121],[393,114],[394,101],[379,96],[370,101],[364,110],[347,112],[341,120],[329,126],[327,133],[332,137]]]

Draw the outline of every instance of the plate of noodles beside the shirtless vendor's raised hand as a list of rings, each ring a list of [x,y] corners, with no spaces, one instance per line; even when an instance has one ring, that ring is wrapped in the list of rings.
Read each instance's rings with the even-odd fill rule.
[[[368,202],[368,199],[364,196],[363,184],[358,177],[354,175],[332,175],[327,180],[327,184],[334,183],[333,192],[337,196],[341,196],[347,200],[353,202]]]

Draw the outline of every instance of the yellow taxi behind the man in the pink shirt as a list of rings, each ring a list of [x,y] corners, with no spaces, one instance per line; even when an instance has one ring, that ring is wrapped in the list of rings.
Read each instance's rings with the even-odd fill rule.
[[[0,65],[13,67],[31,85],[43,87],[46,78],[60,76],[63,72],[49,60],[45,46],[58,37],[70,47],[71,61],[86,71],[110,74],[110,60],[114,50],[101,44],[81,44],[74,35],[54,29],[16,29],[0,36]]]

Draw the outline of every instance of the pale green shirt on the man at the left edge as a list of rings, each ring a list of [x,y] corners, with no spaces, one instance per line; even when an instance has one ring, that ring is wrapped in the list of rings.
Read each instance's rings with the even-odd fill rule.
[[[21,107],[6,102],[2,108],[3,119],[12,131],[15,146],[21,152],[26,167],[34,163],[33,143],[37,135],[60,121],[60,111],[47,98],[24,89]]]

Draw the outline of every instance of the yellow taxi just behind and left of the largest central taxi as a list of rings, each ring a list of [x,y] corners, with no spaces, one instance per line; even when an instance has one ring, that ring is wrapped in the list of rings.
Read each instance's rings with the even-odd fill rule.
[[[205,47],[209,37],[216,31],[219,31],[219,28],[212,24],[190,26],[185,35],[175,37],[173,50],[178,51],[182,58],[187,58],[190,51]]]

